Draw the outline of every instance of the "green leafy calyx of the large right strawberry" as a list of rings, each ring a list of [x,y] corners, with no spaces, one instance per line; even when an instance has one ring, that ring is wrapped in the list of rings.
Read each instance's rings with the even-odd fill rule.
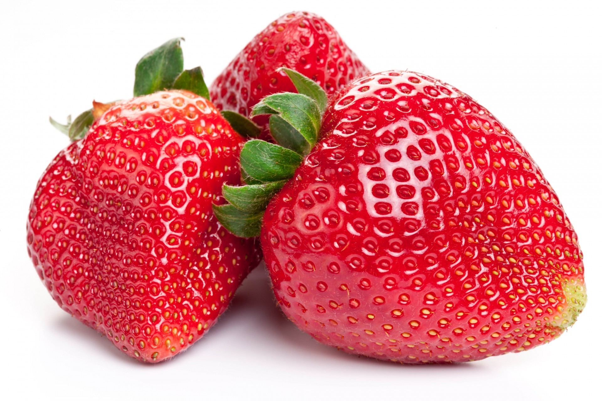
[[[293,178],[320,134],[326,92],[294,70],[284,67],[279,70],[290,78],[298,93],[266,96],[250,114],[250,117],[270,115],[270,133],[276,143],[261,139],[247,141],[240,152],[241,177],[246,185],[224,185],[222,195],[228,203],[213,205],[220,223],[238,237],[259,235],[267,204]]]

